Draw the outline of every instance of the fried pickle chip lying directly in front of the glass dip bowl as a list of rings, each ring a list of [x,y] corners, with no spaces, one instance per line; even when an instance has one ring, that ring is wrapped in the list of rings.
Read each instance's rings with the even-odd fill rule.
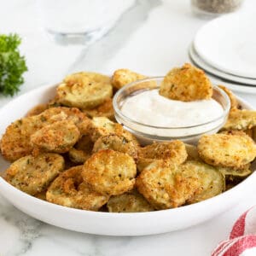
[[[151,145],[140,148],[138,154],[137,169],[143,169],[154,160],[166,160],[171,164],[182,164],[188,157],[185,144],[181,141],[168,143],[152,143]]]

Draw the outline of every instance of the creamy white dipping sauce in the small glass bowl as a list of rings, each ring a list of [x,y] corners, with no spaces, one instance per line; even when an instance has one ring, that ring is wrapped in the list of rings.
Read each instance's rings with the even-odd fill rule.
[[[172,101],[160,96],[159,90],[145,90],[125,100],[122,113],[144,125],[183,127],[201,125],[224,113],[215,100]]]

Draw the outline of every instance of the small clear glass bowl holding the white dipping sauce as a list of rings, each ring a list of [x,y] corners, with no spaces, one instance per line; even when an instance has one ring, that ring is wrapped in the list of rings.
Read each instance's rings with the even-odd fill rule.
[[[200,125],[183,127],[160,127],[145,125],[133,120],[122,113],[122,105],[128,97],[134,96],[145,90],[155,90],[160,88],[160,83],[164,77],[138,80],[131,84],[126,84],[117,91],[113,97],[113,109],[115,119],[119,124],[124,125],[125,130],[130,131],[137,137],[140,143],[147,145],[153,142],[165,142],[170,140],[182,140],[184,143],[197,143],[202,134],[213,134],[225,124],[230,112],[230,98],[224,90],[213,85],[212,99],[217,101],[224,112],[217,118]]]

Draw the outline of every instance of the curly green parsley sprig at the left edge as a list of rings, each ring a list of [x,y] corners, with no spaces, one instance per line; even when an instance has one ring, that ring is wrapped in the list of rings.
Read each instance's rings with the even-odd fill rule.
[[[24,83],[22,74],[27,71],[25,57],[18,46],[21,38],[17,34],[0,34],[0,94],[14,96]]]

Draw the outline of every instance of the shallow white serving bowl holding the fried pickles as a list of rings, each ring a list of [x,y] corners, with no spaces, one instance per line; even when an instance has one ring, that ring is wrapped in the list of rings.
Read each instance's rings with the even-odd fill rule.
[[[0,109],[1,128],[5,128],[15,119],[23,116],[34,105],[46,102],[54,95],[55,86],[46,86],[32,90]],[[243,103],[245,108],[249,105]],[[4,170],[9,163],[0,157],[0,166]],[[194,205],[156,212],[110,213],[90,212],[61,207],[39,200],[21,192],[0,177],[0,193],[22,212],[38,218],[48,224],[84,233],[109,236],[143,236],[181,230],[200,224],[217,214],[226,211],[252,193],[256,183],[256,172],[238,184],[235,188]]]

